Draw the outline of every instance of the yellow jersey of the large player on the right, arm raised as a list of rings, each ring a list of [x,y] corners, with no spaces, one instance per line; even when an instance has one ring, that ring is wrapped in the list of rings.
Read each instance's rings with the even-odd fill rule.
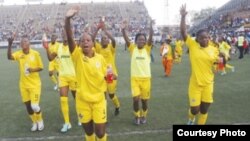
[[[189,35],[186,44],[189,48],[189,58],[191,62],[190,80],[195,81],[200,86],[213,83],[213,66],[218,60],[218,49],[211,45],[203,48]]]

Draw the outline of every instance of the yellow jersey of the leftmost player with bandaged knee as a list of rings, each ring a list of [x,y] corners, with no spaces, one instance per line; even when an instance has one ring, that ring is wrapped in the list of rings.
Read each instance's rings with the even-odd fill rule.
[[[28,54],[24,54],[22,50],[12,54],[15,61],[19,63],[20,81],[19,84],[23,88],[37,88],[41,86],[39,72],[29,73],[28,68],[41,68],[43,63],[39,52],[30,49]]]

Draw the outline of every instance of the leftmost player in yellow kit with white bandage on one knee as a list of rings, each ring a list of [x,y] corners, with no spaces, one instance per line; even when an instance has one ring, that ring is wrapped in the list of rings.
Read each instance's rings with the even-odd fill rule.
[[[22,50],[14,53],[11,51],[13,40],[14,37],[8,39],[7,56],[9,60],[19,63],[19,88],[22,101],[33,122],[31,131],[41,131],[44,129],[44,124],[41,107],[39,106],[42,85],[39,72],[43,70],[43,63],[39,52],[30,48],[28,37],[22,37]]]

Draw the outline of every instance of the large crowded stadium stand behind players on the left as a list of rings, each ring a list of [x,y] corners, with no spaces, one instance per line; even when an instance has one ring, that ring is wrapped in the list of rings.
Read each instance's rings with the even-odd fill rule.
[[[75,38],[78,38],[85,27],[94,30],[102,16],[105,16],[108,30],[114,36],[121,36],[119,23],[122,19],[129,21],[130,36],[148,28],[150,19],[143,2],[102,2],[102,3],[61,3],[0,6],[0,41],[6,41],[13,32],[17,40],[21,35],[28,35],[32,40],[41,40],[43,33],[61,34],[64,15],[73,5],[80,5],[81,11],[73,25]],[[143,20],[144,19],[144,20]]]

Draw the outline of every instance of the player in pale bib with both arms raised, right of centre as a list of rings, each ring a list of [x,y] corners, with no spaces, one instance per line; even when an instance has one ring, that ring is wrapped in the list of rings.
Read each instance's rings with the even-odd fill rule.
[[[152,28],[153,20],[150,22],[150,32],[148,40],[143,33],[137,33],[135,44],[130,43],[126,34],[127,22],[123,21],[121,25],[123,38],[128,45],[131,54],[131,89],[133,97],[133,110],[135,115],[135,124],[146,123],[148,112],[148,100],[151,91],[151,68],[150,51],[152,47]],[[140,109],[140,101],[142,109]]]

